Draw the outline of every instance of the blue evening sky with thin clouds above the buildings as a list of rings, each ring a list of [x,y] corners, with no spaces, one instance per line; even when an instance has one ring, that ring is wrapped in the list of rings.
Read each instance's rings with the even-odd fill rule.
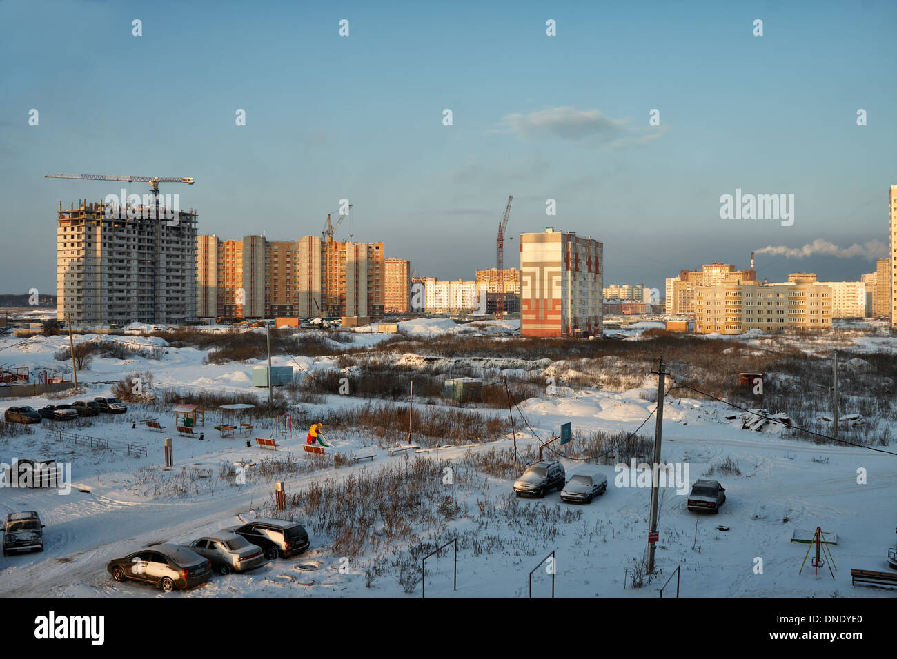
[[[494,264],[508,195],[510,235],[603,240],[605,284],[887,254],[897,3],[0,0],[0,24],[0,292],[55,292],[58,202],[118,193],[55,172],[193,177],[162,192],[223,238],[319,235],[348,198],[337,238],[440,278]],[[795,195],[794,224],[721,220],[736,188]]]

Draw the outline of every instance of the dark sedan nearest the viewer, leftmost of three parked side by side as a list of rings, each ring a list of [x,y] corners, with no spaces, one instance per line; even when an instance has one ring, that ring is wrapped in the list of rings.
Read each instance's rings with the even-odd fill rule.
[[[212,563],[179,544],[155,544],[106,566],[118,583],[126,579],[158,585],[166,593],[205,584],[212,577]]]

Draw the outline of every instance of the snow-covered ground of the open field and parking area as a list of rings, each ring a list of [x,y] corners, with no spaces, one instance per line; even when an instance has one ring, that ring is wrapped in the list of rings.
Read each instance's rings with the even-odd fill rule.
[[[645,325],[626,332],[638,340],[639,329],[653,326]],[[516,321],[456,325],[439,319],[400,325],[403,333],[425,339],[466,333],[501,341],[517,329]],[[376,353],[379,343],[388,336],[371,332],[370,328],[352,332],[353,345],[370,354]],[[98,338],[87,334],[76,340]],[[210,364],[205,363],[207,351],[170,347],[159,337],[128,334],[116,340],[158,349],[162,351],[161,359],[95,358],[90,370],[79,373],[83,393],[62,398],[54,395],[8,399],[2,407],[39,408],[48,403],[110,395],[110,386],[119,377],[145,370],[152,371],[153,386],[158,391],[170,387],[233,392],[257,395],[259,406],[267,402],[266,389],[252,386],[252,367],[264,363],[260,360]],[[751,340],[747,337],[745,343]],[[807,351],[814,350],[812,339],[793,341],[803,341]],[[893,338],[864,328],[857,328],[857,336],[849,341],[858,351],[895,349]],[[67,344],[68,337],[63,335],[34,337],[25,343],[5,337],[0,339],[0,363],[7,368],[27,366],[61,374],[65,362],[54,359],[54,354]],[[416,356],[393,354],[384,359],[414,367],[415,360],[425,357],[422,352]],[[336,356],[278,355],[273,363],[292,366],[294,377],[299,380],[311,377],[309,374],[340,370]],[[543,395],[519,401],[519,413],[514,412],[516,433],[503,433],[495,441],[457,446],[466,442],[445,438],[436,443],[452,446],[390,456],[387,447],[405,444],[404,435],[384,439],[367,432],[331,434],[325,427],[327,439],[334,445],[330,449],[333,453],[375,457],[357,464],[352,460],[310,463],[307,469],[301,467],[277,478],[260,477],[250,465],[264,460],[304,464],[306,454],[300,445],[305,443],[307,428],[295,429],[292,438],[278,438],[282,447],[268,451],[255,442],[247,447],[246,439],[239,433],[236,438],[219,437],[212,428],[210,411],[205,428],[199,429],[205,432],[205,440],[200,442],[180,438],[173,432],[173,412],[148,413],[132,404],[126,414],[98,417],[90,426],[74,429],[108,439],[111,450],[91,450],[45,438],[45,429],[65,428],[65,422],[44,420],[31,427],[33,433],[16,430],[13,436],[0,438],[0,461],[9,464],[27,457],[71,464],[73,487],[65,495],[56,490],[0,489],[3,516],[36,510],[46,525],[45,551],[0,559],[0,595],[163,596],[149,585],[114,583],[106,571],[107,562],[150,542],[186,543],[252,519],[262,508],[271,506],[274,480],[283,480],[287,493],[301,498],[315,487],[335,488],[355,477],[364,480],[384,470],[397,473],[418,469],[424,475],[422,481],[415,481],[416,487],[427,490],[425,499],[435,512],[414,512],[409,517],[412,528],[407,533],[394,533],[375,524],[370,530],[370,543],[352,556],[344,556],[332,548],[341,533],[335,530],[338,520],[328,525],[322,523],[318,526],[326,529],[316,531],[311,519],[297,517],[296,521],[308,528],[311,540],[311,548],[300,557],[274,559],[248,574],[216,575],[196,589],[164,596],[420,596],[421,585],[414,585],[411,580],[414,587],[405,586],[412,566],[416,565],[420,572],[421,542],[435,544],[457,536],[457,594],[463,596],[526,596],[529,571],[554,551],[557,596],[657,597],[660,587],[679,567],[683,596],[893,597],[893,590],[851,586],[850,569],[889,570],[887,548],[897,544],[897,456],[863,447],[817,445],[781,437],[778,431],[742,429],[740,416],[727,419],[736,412],[724,403],[682,397],[684,391],[676,391],[665,399],[662,459],[687,468],[689,486],[712,472],[707,477],[723,484],[727,502],[718,515],[700,515],[686,509],[687,491],[662,490],[658,574],[633,589],[631,571],[648,542],[649,489],[621,487],[623,472],[616,470],[614,464],[599,464],[608,481],[606,493],[589,505],[576,506],[563,503],[557,492],[541,500],[516,498],[513,477],[477,468],[477,464],[482,464],[477,454],[512,450],[515,438],[518,450],[523,452],[537,446],[536,437],[546,439],[557,434],[566,421],[572,422],[579,435],[588,435],[597,430],[632,432],[649,420],[640,432],[653,438],[655,421],[651,413],[656,403],[651,398],[656,392],[656,377],[646,371],[643,386],[609,391],[565,386],[562,372],[550,363],[536,370],[535,377],[556,374],[557,386]],[[505,375],[519,375],[519,369],[508,368]],[[415,395],[416,391],[415,388]],[[320,402],[301,403],[301,407],[313,414],[367,403],[359,397],[327,395]],[[431,407],[448,407],[444,399],[442,403],[427,403]],[[416,399],[414,404],[416,408]],[[507,408],[481,408],[477,412],[484,417],[508,419]],[[166,431],[153,432],[139,423],[132,429],[132,422],[146,416],[158,417]],[[271,434],[271,429],[256,433],[258,437]],[[170,472],[161,469],[165,437],[174,438],[175,468]],[[412,438],[415,444],[424,444],[415,439]],[[128,455],[124,447],[129,443],[146,447],[148,455]],[[897,443],[877,448],[897,452]],[[552,455],[546,450],[546,457]],[[738,473],[720,473],[720,465],[727,460],[736,464]],[[567,458],[561,458],[561,462],[568,478],[582,464]],[[417,463],[420,466],[415,467]],[[231,467],[247,470],[245,483],[233,481],[228,475]],[[451,482],[446,482],[447,467],[451,468]],[[858,470],[866,473],[865,482],[858,482],[863,480],[858,479]],[[625,475],[635,474],[626,470]],[[395,496],[404,497],[405,493],[396,491]],[[363,510],[369,503],[359,499],[353,505]],[[315,518],[320,520],[332,502],[323,500],[317,505],[321,509],[315,512]],[[429,504],[421,504],[426,505]],[[790,538],[796,531],[812,533],[817,526],[837,534],[838,543],[832,546],[832,567],[837,568],[834,579],[827,566],[814,574],[809,559],[798,575],[807,545],[790,542]],[[384,542],[384,538],[390,540]],[[551,575],[544,567],[533,573],[534,596],[551,593]],[[453,594],[451,568],[451,548],[439,559],[434,556],[427,560],[427,596]],[[675,590],[675,577],[672,584]],[[410,594],[406,594],[409,590]]]

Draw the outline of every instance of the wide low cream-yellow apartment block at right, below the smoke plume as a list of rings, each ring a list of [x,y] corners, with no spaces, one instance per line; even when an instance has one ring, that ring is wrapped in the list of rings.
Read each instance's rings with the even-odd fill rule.
[[[695,331],[700,334],[831,326],[832,289],[821,283],[729,280],[699,289]]]

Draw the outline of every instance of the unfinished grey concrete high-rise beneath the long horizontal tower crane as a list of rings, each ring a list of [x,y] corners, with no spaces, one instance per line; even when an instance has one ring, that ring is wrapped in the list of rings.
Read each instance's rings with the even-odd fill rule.
[[[166,211],[162,213],[160,211]],[[196,212],[79,200],[57,216],[57,319],[73,325],[196,318]]]

